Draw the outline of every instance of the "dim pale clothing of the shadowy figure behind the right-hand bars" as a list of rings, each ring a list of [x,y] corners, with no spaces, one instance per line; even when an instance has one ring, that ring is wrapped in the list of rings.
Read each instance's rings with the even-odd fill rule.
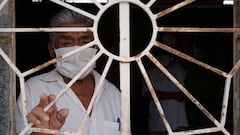
[[[184,86],[185,71],[182,69],[181,65],[177,62],[172,62],[167,69]],[[150,69],[148,71],[148,76],[155,90],[161,90],[163,92],[180,92],[177,86],[158,68]],[[143,93],[146,91],[148,91],[148,88],[144,85]],[[160,104],[172,129],[188,126],[185,102],[168,99],[160,100]],[[166,130],[153,100],[149,103],[148,125],[149,131],[157,132]]]

